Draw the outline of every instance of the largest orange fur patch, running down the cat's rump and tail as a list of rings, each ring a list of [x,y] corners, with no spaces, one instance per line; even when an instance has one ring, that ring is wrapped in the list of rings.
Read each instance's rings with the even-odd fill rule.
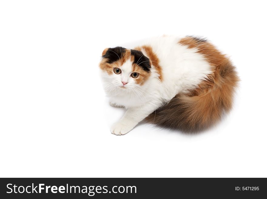
[[[228,112],[232,108],[234,89],[239,78],[231,61],[210,42],[185,37],[179,44],[198,49],[197,52],[205,57],[214,71],[191,92],[191,96],[201,98],[195,106],[202,115],[203,125],[208,126],[208,123],[215,123],[221,118],[222,110]]]

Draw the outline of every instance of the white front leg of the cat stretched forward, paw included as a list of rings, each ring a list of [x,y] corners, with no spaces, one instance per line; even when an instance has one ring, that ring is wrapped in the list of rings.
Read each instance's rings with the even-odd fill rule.
[[[155,104],[145,104],[140,107],[131,107],[126,110],[120,121],[114,123],[110,129],[111,133],[124,135],[132,130],[139,122],[144,120],[150,113],[159,108]]]

